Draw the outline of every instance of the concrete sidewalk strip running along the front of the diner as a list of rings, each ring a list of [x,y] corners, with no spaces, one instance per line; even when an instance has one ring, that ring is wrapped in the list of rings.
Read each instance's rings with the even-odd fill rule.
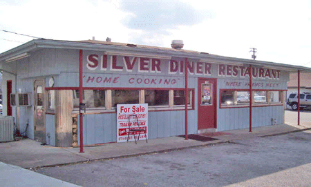
[[[41,146],[41,143],[32,139],[23,139],[21,141],[0,144],[0,161],[6,164],[20,166],[22,168],[60,166],[63,164],[75,164],[99,159],[114,159],[117,157],[130,157],[135,155],[152,154],[155,152],[167,152],[183,148],[194,148],[197,146],[208,146],[236,139],[281,135],[288,132],[308,130],[311,129],[310,127],[281,124],[276,126],[253,128],[252,132],[249,132],[249,129],[228,130],[225,132],[228,132],[229,135],[216,136],[213,137],[216,138],[216,140],[205,142],[193,139],[185,140],[185,138],[182,137],[149,139],[148,143],[142,139],[138,141],[138,144],[131,141],[84,147],[84,153],[79,153],[79,148]]]

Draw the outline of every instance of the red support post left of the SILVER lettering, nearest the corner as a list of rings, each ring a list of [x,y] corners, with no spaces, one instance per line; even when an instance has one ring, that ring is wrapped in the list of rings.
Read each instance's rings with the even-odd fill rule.
[[[79,50],[79,104],[83,102],[83,50]],[[83,114],[79,108],[80,153],[83,151]]]

